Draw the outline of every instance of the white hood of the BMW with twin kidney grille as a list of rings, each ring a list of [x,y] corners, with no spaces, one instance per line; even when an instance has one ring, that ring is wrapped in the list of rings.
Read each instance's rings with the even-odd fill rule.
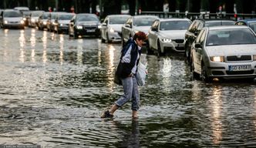
[[[164,38],[169,39],[185,39],[187,30],[166,30],[160,31],[159,34]]]

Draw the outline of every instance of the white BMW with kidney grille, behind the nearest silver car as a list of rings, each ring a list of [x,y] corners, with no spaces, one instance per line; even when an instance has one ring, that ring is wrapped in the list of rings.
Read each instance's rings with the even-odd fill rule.
[[[148,33],[148,52],[184,52],[185,32],[191,21],[188,18],[157,19]]]

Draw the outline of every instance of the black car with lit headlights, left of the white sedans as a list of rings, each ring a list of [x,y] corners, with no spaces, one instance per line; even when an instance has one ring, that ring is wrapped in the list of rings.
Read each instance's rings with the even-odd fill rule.
[[[69,36],[77,38],[79,35],[100,35],[100,22],[97,15],[80,13],[75,15],[69,22]]]

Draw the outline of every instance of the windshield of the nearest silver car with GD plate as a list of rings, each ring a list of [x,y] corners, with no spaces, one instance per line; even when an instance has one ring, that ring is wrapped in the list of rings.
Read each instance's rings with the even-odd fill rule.
[[[206,45],[256,44],[256,36],[250,29],[211,30]]]

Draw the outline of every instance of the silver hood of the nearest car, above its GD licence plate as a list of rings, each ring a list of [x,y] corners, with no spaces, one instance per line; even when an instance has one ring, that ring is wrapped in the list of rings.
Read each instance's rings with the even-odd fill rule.
[[[214,45],[206,47],[210,56],[214,55],[256,55],[256,44],[246,45]]]

